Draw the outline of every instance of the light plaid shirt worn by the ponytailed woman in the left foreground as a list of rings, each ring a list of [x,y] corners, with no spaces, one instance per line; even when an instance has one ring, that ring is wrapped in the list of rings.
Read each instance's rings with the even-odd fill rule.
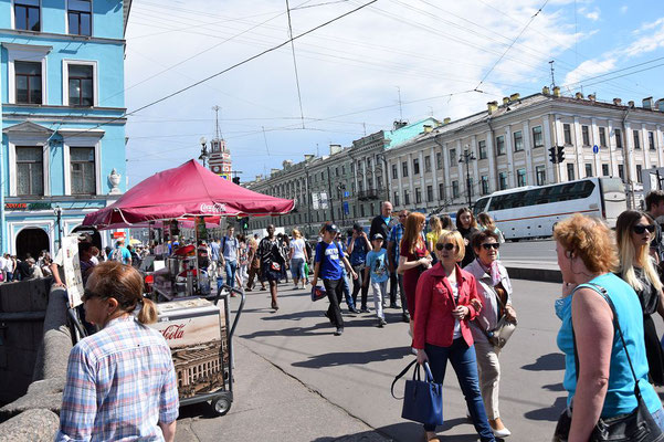
[[[178,418],[170,349],[133,315],[113,319],[72,349],[55,441],[164,441]]]

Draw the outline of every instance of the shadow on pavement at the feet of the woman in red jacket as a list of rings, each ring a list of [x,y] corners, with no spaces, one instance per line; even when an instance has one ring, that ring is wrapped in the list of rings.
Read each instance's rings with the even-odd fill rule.
[[[478,436],[475,433],[475,429],[473,425],[467,423],[468,433],[467,434],[454,434],[454,435],[445,435],[445,429],[450,429],[454,425],[459,425],[462,423],[467,423],[465,419],[453,419],[449,423],[446,422],[444,425],[439,427],[436,429],[439,439],[441,441],[454,441],[454,442],[466,442],[466,441],[477,441]],[[356,434],[347,434],[341,438],[317,438],[314,439],[313,442],[411,442],[411,441],[423,441],[424,440],[424,429],[421,424],[415,422],[400,422],[394,423],[387,427],[381,427],[376,429],[375,431],[362,431],[361,433]]]

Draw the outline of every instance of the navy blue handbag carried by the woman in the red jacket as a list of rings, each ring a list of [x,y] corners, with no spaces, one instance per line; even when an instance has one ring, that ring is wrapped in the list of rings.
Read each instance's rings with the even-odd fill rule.
[[[394,399],[401,399],[394,396],[394,383],[408,372],[413,364],[417,364],[417,360],[410,362],[392,381],[391,391]],[[424,362],[424,380],[420,376],[420,365],[417,365],[412,380],[405,381],[401,417],[429,425],[443,423],[443,386],[433,380],[426,362]]]

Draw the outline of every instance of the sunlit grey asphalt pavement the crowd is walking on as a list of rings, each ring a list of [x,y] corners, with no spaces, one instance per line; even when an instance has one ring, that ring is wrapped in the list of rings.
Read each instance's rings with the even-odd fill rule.
[[[519,326],[500,355],[502,418],[513,432],[512,441],[549,441],[566,397],[563,357],[556,347],[559,319],[554,314],[559,286],[513,283]],[[402,420],[401,401],[390,396],[393,377],[413,358],[400,312],[387,311],[384,328],[376,327],[376,318],[369,314],[345,316],[346,333],[335,337],[323,317],[327,302],[312,303],[307,292],[280,286],[281,309],[276,313],[268,308],[266,292],[247,294],[236,330],[242,351],[235,358],[233,408],[226,417],[214,419],[201,419],[201,408],[183,409],[178,441],[252,440],[256,432],[271,441],[421,441],[421,427]],[[236,298],[232,301],[236,303]],[[263,377],[270,381],[260,382]],[[398,396],[402,389],[400,381]],[[303,407],[307,394],[313,401],[308,408]],[[336,411],[329,411],[333,409]],[[465,410],[449,367],[445,424],[439,428],[442,441],[477,440]],[[287,431],[303,422],[305,427],[295,434]],[[188,432],[191,428],[196,429],[194,439]]]

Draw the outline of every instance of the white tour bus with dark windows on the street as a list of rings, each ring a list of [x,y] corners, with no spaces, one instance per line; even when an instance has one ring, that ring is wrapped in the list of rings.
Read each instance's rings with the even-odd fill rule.
[[[628,209],[624,185],[619,178],[586,178],[549,186],[502,190],[477,200],[474,213],[488,212],[505,239],[550,236],[556,223],[572,213],[604,220],[615,228]]]

